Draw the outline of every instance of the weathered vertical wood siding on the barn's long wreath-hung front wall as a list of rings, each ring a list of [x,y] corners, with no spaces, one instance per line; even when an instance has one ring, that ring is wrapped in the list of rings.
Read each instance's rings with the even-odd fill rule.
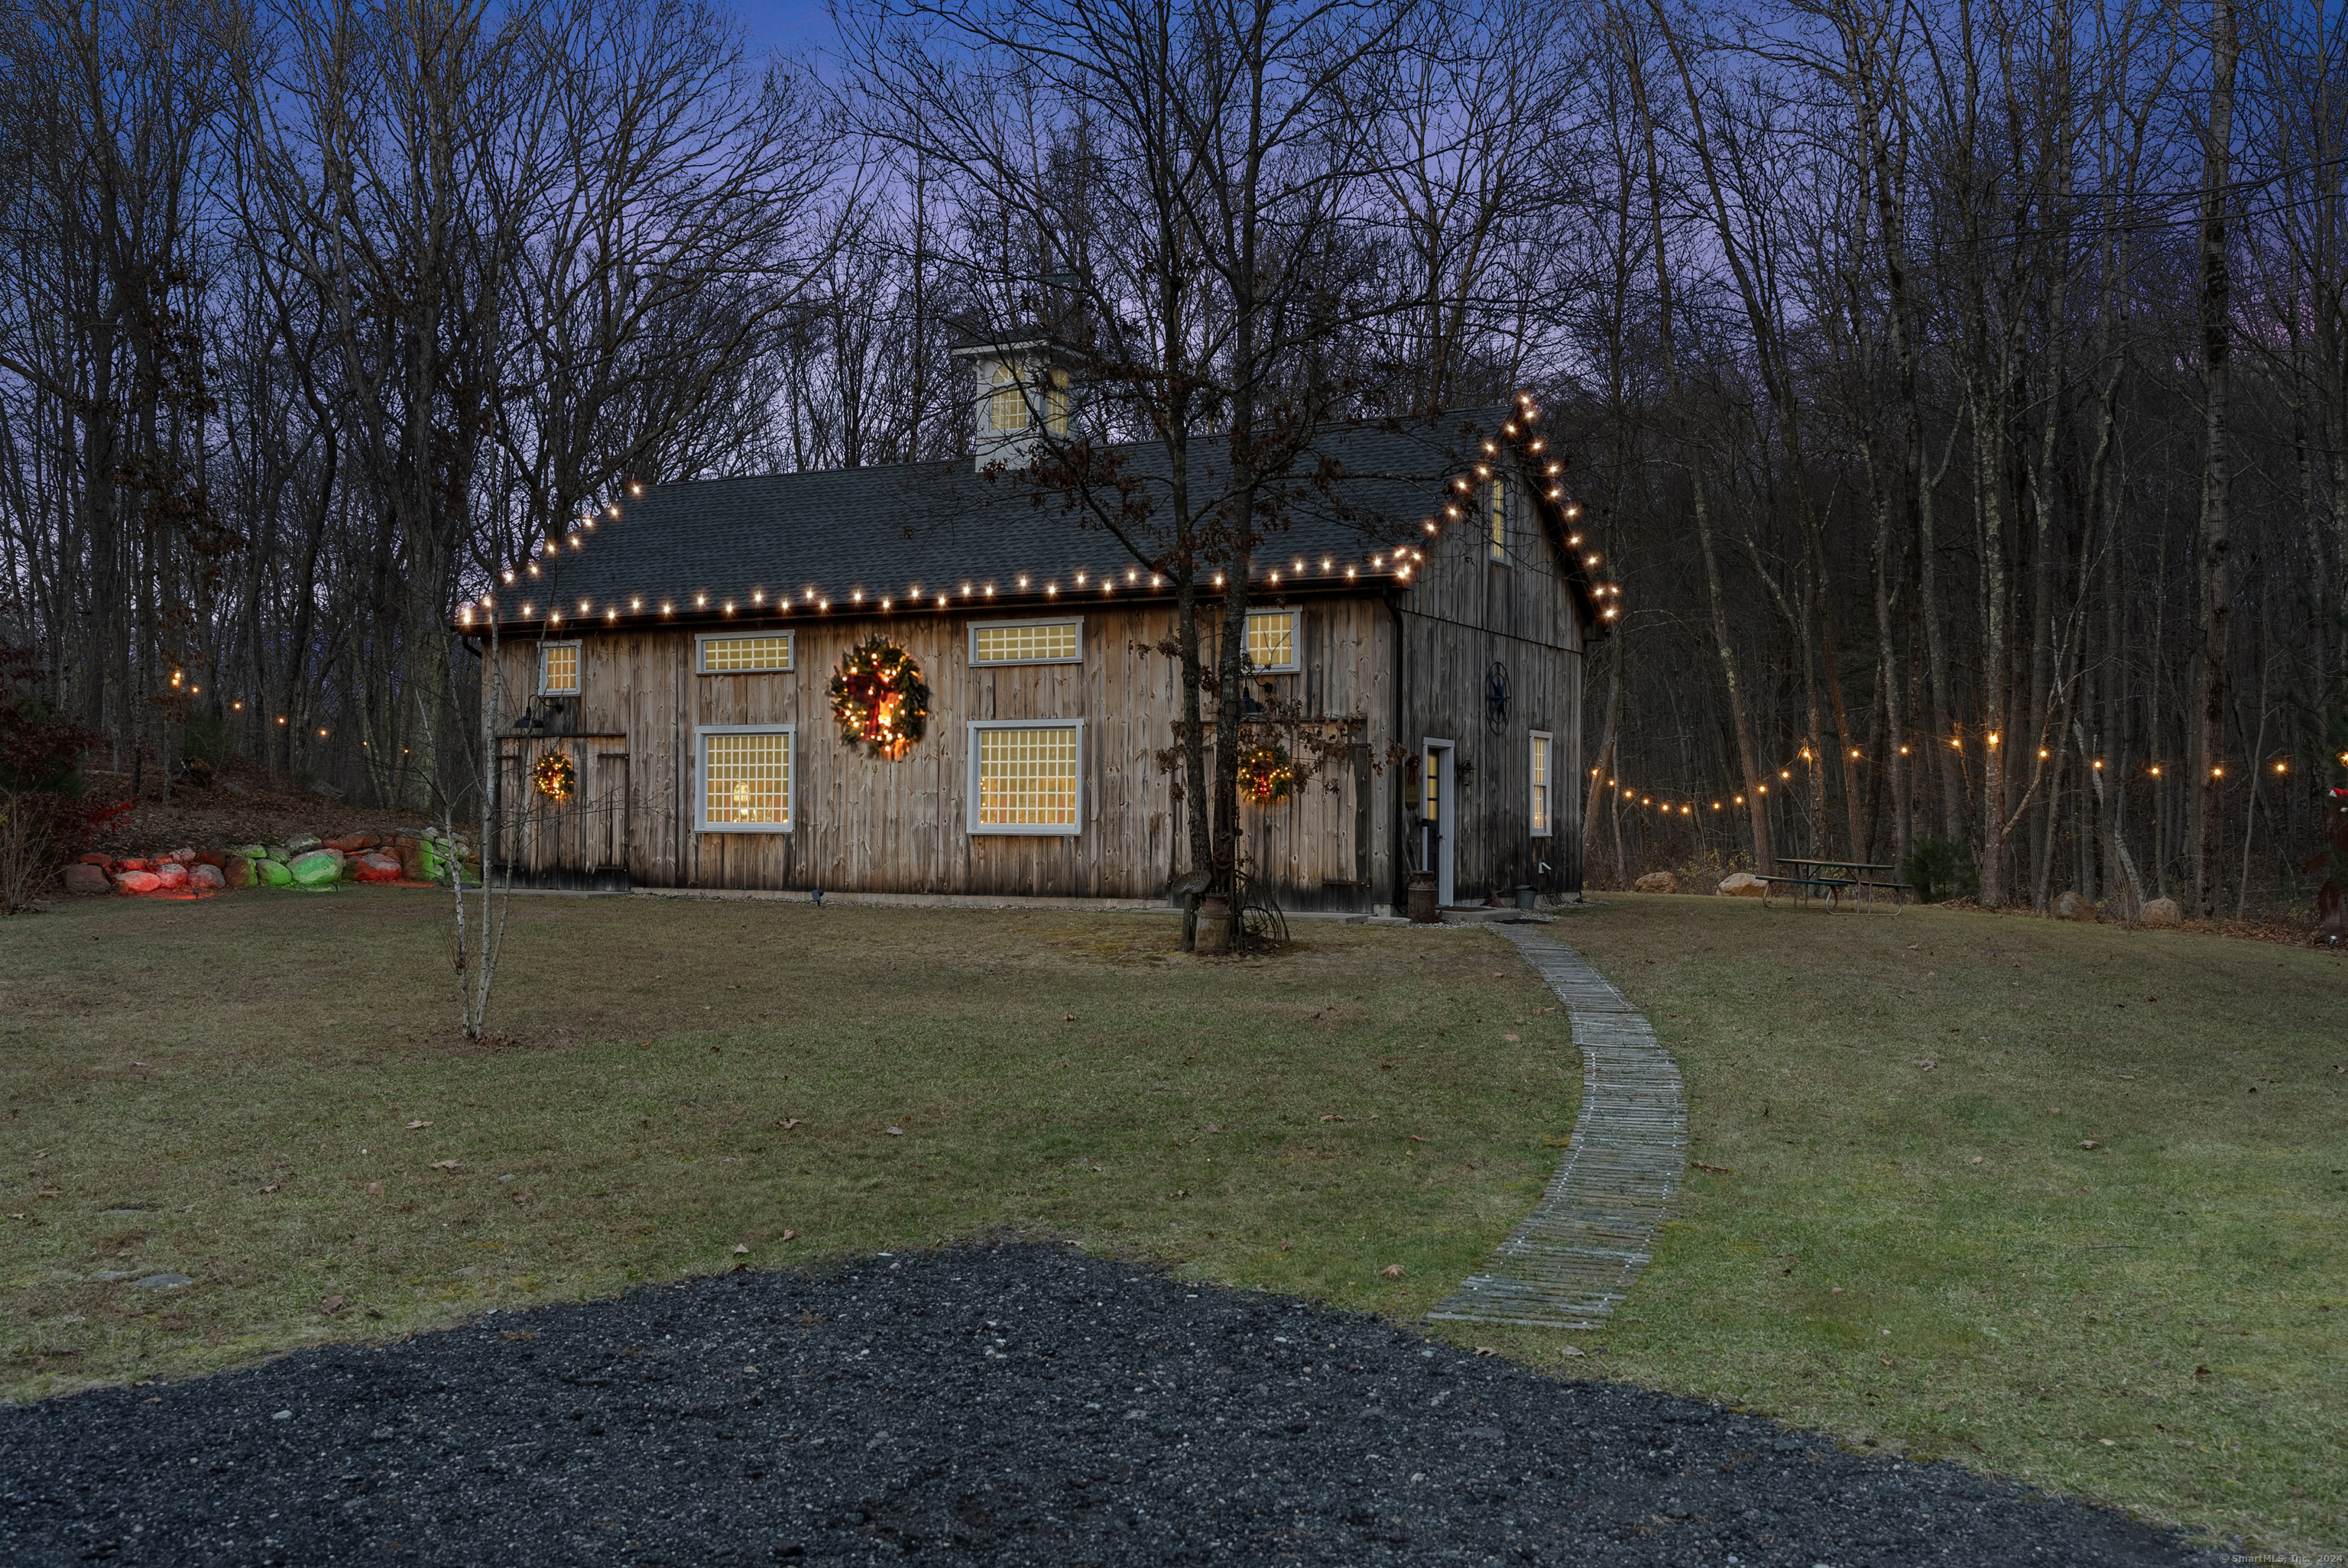
[[[1050,613],[794,617],[728,624],[789,629],[787,674],[695,674],[688,629],[580,629],[580,695],[538,699],[538,643],[500,646],[502,810],[535,805],[512,831],[514,864],[545,880],[589,878],[615,857],[650,887],[824,887],[1139,899],[1188,866],[1172,779],[1155,753],[1174,744],[1179,671],[1155,653],[1172,634],[1167,606],[1071,608],[1085,622],[1082,664],[970,664],[972,620]],[[1392,716],[1392,636],[1374,596],[1305,599],[1303,674],[1277,676],[1310,714],[1369,718],[1362,756],[1296,798],[1249,810],[1247,854],[1289,908],[1369,908],[1388,901],[1392,770],[1371,768]],[[824,695],[841,655],[873,631],[906,648],[930,685],[930,728],[902,761],[850,751]],[[526,709],[547,732],[514,735]],[[970,721],[1082,721],[1082,831],[993,836],[967,831]],[[794,829],[695,831],[695,725],[789,723]],[[528,768],[547,749],[580,768],[566,807],[531,800]],[[1334,784],[1336,789],[1324,789]]]

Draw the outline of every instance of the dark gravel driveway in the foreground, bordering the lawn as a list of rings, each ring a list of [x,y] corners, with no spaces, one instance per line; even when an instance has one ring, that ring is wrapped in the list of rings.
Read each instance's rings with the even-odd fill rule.
[[[0,1411],[35,1563],[2214,1563],[1954,1465],[1059,1246]]]

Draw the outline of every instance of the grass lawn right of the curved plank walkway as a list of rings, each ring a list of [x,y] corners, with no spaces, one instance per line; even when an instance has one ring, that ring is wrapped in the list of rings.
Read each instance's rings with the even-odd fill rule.
[[[1578,1340],[1606,1376],[2348,1547],[2348,955],[1632,894],[1557,932],[1733,1171]]]

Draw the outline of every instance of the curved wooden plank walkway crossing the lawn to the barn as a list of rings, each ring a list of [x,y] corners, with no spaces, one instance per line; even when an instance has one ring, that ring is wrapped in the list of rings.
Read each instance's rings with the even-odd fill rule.
[[[1496,925],[1566,1002],[1583,1110],[1557,1176],[1517,1230],[1430,1319],[1597,1329],[1646,1268],[1688,1157],[1679,1063],[1622,993],[1533,925]]]

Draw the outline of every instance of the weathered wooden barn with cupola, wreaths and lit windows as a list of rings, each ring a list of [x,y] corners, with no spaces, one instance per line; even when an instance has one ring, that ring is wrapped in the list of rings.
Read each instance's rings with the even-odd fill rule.
[[[1026,477],[1066,415],[1021,347],[972,354],[977,460],[643,486],[460,613],[519,885],[1167,897],[1172,589]],[[1444,904],[1580,890],[1615,589],[1531,413],[1315,434],[1244,648],[1242,854],[1284,908],[1390,913],[1413,871]],[[1118,458],[1162,484],[1162,448]]]

